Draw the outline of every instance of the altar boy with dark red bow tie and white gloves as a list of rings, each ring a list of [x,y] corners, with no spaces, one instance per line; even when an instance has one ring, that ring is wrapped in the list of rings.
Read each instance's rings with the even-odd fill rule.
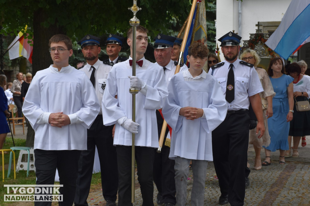
[[[132,62],[132,28],[127,32],[130,46],[129,60],[113,65],[107,79],[102,99],[104,125],[115,124],[114,142],[118,166],[118,205],[131,203],[131,140],[135,134],[135,158],[138,180],[143,199],[142,205],[153,203],[154,148],[158,147],[156,109],[163,106],[168,95],[162,67],[144,58],[148,46],[147,29],[136,28],[136,62]],[[136,64],[136,76],[132,75]],[[130,78],[129,78],[130,77]],[[136,94],[135,122],[132,118],[132,95],[130,87],[139,88]],[[117,94],[117,99],[115,95]]]

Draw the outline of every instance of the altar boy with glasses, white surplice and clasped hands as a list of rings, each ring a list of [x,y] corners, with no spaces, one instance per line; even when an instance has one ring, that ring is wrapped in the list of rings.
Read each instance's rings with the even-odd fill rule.
[[[86,129],[100,110],[94,87],[82,71],[69,65],[73,54],[68,36],[54,35],[49,41],[53,65],[38,71],[26,94],[23,113],[35,131],[34,165],[37,185],[53,185],[58,169],[60,205],[72,205],[78,159],[86,150]],[[50,205],[51,202],[35,202]]]

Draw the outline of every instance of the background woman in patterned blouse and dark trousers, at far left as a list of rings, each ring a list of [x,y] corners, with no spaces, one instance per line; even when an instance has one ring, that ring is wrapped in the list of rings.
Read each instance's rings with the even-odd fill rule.
[[[17,107],[18,117],[22,117],[21,107],[23,106],[22,105],[23,101],[21,98],[21,84],[24,82],[23,81],[23,73],[18,72],[16,74],[16,78],[17,79],[15,79],[13,81],[11,92],[13,93],[13,99],[14,99],[14,102],[15,102],[16,107]],[[19,120],[19,121],[21,121],[21,120]]]

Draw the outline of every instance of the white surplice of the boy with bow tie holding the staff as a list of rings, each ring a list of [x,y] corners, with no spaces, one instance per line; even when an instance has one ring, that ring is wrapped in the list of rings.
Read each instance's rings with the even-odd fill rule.
[[[162,67],[151,63],[144,57],[141,60],[143,60],[142,67],[136,64],[136,76],[148,86],[146,95],[141,92],[136,94],[135,122],[140,126],[138,126],[138,133],[135,134],[135,145],[157,148],[156,109],[163,106],[168,95],[167,86]],[[132,76],[132,66],[129,65],[129,60],[113,65],[102,99],[104,125],[116,124],[117,120],[123,116],[132,118],[132,95],[129,93],[130,79],[128,76]],[[117,99],[114,98],[116,93]],[[114,145],[131,146],[131,137],[131,132],[116,124]]]

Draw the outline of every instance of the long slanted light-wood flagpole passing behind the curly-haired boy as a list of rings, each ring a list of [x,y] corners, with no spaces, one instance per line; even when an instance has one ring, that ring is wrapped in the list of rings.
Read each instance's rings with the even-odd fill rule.
[[[192,8],[191,8],[191,11],[189,12],[189,15],[188,15],[187,25],[186,25],[186,28],[185,28],[184,37],[183,37],[183,41],[182,41],[182,44],[181,44],[181,50],[180,50],[180,54],[179,54],[179,58],[178,58],[178,65],[175,68],[175,74],[177,74],[180,71],[180,65],[182,63],[182,57],[183,57],[183,54],[184,54],[186,40],[187,40],[187,37],[188,37],[188,33],[189,33],[189,29],[190,29],[191,22],[192,22],[192,19],[193,19],[193,15],[194,15],[194,12],[195,12],[196,4],[197,4],[197,0],[193,0]],[[166,122],[166,120],[164,120],[164,122],[162,124],[162,132],[160,133],[160,137],[159,137],[159,146],[158,146],[158,149],[157,149],[157,153],[161,153],[162,152],[162,145],[164,143],[166,129],[167,129],[167,122]]]

